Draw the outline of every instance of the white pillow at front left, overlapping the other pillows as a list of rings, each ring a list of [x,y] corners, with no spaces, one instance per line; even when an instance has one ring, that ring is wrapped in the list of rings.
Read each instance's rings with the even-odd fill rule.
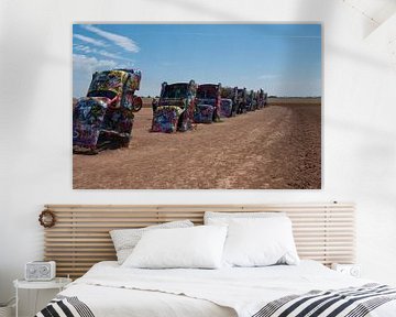
[[[218,269],[226,236],[226,226],[151,230],[144,232],[122,266]]]

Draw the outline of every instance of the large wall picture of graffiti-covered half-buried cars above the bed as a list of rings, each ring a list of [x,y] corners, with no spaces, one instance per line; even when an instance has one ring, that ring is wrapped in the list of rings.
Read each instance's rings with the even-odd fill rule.
[[[74,24],[75,189],[320,189],[322,29]]]

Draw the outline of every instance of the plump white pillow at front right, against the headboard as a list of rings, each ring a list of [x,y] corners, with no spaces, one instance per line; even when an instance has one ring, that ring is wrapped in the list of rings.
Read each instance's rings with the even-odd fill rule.
[[[290,219],[272,217],[230,220],[223,261],[232,266],[298,264]]]

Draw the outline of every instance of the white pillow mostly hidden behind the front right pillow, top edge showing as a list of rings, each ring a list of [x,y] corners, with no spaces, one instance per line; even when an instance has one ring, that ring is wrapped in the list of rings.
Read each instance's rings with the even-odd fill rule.
[[[205,225],[228,225],[232,219],[239,218],[271,218],[271,217],[284,217],[285,212],[268,211],[268,212],[217,212],[205,211],[204,223]]]

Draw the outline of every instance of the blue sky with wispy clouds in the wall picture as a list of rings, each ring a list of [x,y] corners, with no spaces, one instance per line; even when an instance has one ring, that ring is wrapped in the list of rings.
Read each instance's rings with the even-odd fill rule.
[[[142,70],[139,96],[163,81],[221,83],[276,96],[321,96],[320,24],[74,24],[73,94],[96,70]]]

